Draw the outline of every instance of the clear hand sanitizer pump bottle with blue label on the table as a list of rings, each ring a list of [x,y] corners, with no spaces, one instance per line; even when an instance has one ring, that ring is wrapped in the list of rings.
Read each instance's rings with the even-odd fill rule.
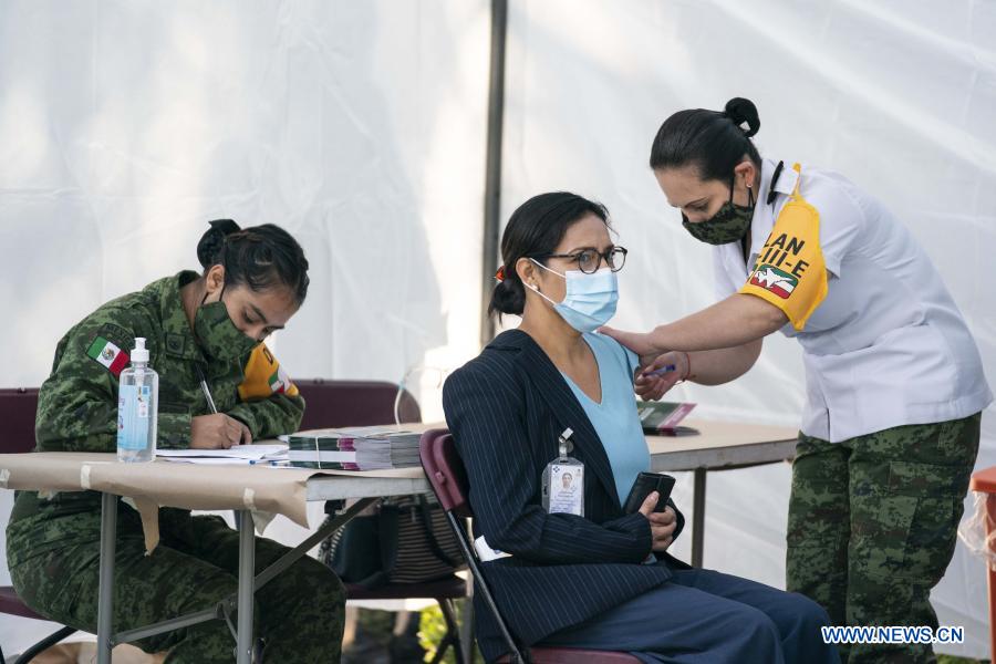
[[[132,363],[121,372],[117,392],[117,460],[151,461],[156,456],[159,374],[148,366],[145,339],[135,339]]]

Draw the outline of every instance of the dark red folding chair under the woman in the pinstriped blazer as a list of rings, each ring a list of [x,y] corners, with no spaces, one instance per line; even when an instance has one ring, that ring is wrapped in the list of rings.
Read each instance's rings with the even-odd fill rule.
[[[488,610],[498,622],[501,636],[508,644],[508,654],[498,662],[510,664],[639,664],[640,660],[629,653],[582,650],[573,647],[533,646],[521,647],[512,637],[508,625],[495,603],[491,590],[480,573],[480,561],[474,547],[470,546],[470,536],[461,521],[474,517],[470,504],[467,501],[467,471],[460,460],[453,442],[453,436],[446,429],[429,429],[422,435],[418,444],[418,453],[422,456],[422,467],[428,477],[436,498],[446,512],[449,527],[457,536],[464,558],[474,575],[474,592],[480,593]]]

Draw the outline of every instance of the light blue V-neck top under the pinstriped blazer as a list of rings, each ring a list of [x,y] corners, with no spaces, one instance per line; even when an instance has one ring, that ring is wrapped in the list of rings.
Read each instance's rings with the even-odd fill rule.
[[[602,403],[596,404],[563,372],[574,397],[602,440],[620,505],[641,471],[650,470],[650,449],[643,436],[640,416],[636,414],[636,396],[633,394],[633,372],[639,357],[611,336],[585,332],[583,336],[599,365],[602,385]]]

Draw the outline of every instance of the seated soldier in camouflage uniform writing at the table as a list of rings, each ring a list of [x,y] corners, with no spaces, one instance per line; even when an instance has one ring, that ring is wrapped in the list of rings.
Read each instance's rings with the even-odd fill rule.
[[[212,222],[198,245],[204,276],[184,271],[113,300],[59,342],[41,387],[40,452],[114,452],[117,375],[136,336],[159,373],[162,448],[218,448],[297,429],[304,401],[261,343],[297,312],[308,261],[283,230]],[[217,414],[200,387],[204,375]],[[7,529],[18,594],[37,612],[94,632],[97,619],[101,499],[95,491],[20,491]],[[160,543],[145,554],[138,513],[118,502],[115,631],[210,608],[237,591],[238,532],[214,516],[159,511]],[[257,538],[257,571],[288,549]],[[267,662],[338,662],[344,592],[304,557],[256,593],[256,634]],[[205,623],[137,643],[168,651],[167,662],[235,661],[226,623]]]

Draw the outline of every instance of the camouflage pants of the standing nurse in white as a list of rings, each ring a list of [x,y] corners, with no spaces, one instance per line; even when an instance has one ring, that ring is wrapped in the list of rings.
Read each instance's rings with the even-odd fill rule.
[[[930,625],[954,553],[981,414],[838,444],[799,434],[789,502],[787,589],[836,625]],[[852,644],[850,664],[934,662],[930,645]]]

